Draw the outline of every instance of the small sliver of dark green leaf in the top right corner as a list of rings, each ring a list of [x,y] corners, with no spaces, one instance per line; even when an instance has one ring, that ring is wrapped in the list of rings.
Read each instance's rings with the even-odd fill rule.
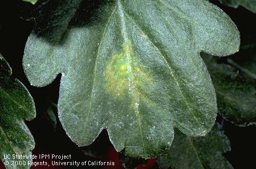
[[[244,8],[256,13],[256,0],[219,0],[222,4],[238,8],[238,6],[244,6]]]

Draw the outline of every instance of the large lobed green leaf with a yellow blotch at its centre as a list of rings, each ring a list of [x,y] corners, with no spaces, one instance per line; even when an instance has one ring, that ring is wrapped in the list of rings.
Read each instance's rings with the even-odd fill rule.
[[[150,158],[169,150],[173,128],[203,136],[216,99],[200,51],[238,51],[239,32],[208,1],[49,1],[39,5],[24,51],[34,86],[62,73],[58,116],[91,144],[103,129],[117,151]]]

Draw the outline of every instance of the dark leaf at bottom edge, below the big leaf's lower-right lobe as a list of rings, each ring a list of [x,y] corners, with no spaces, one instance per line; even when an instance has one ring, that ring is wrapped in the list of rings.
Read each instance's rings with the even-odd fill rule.
[[[233,168],[222,156],[231,151],[228,138],[216,123],[205,137],[189,137],[175,130],[175,138],[168,154],[157,159],[160,168],[227,169]]]

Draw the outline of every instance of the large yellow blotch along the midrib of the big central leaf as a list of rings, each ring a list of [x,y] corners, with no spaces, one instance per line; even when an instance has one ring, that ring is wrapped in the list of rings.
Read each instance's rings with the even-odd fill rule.
[[[123,98],[129,94],[134,105],[140,98],[151,102],[145,91],[152,86],[152,77],[135,56],[130,42],[122,45],[120,53],[111,56],[104,71],[104,78],[104,87],[111,95]]]

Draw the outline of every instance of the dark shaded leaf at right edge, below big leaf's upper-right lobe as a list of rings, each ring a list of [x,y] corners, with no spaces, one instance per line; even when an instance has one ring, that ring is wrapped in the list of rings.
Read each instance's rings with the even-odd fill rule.
[[[255,80],[232,65],[218,64],[213,56],[203,58],[215,87],[221,116],[239,126],[256,124]]]

